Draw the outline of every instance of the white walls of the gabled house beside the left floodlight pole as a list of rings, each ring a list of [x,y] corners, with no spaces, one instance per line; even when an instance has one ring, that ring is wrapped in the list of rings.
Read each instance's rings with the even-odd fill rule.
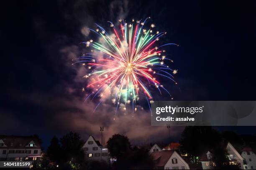
[[[93,141],[93,144],[92,144],[92,145],[89,145],[89,144],[88,144],[88,141]],[[87,150],[87,151],[84,150],[85,159],[87,159],[87,160],[98,160],[98,161],[100,161],[100,159],[102,158],[102,160],[105,160],[105,161],[108,163],[108,156],[102,156],[101,158],[100,158],[100,156],[99,156],[99,157],[95,157],[95,153],[101,153],[101,148],[96,144],[96,142],[95,142],[95,140],[93,140],[92,136],[90,136],[90,137],[88,138],[88,140],[86,141],[86,143],[84,144],[84,146],[82,147],[82,149],[84,149],[84,148],[86,148],[86,147],[88,148],[88,150]],[[93,147],[97,147],[98,150],[92,150]],[[92,157],[88,157],[88,156],[87,156],[89,153],[92,153]],[[103,149],[102,149],[102,153],[108,153],[108,149],[103,148]]]

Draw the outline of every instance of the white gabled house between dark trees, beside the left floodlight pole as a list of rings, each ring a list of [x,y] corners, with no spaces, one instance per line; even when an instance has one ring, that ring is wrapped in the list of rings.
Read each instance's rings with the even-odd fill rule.
[[[103,148],[100,142],[95,140],[92,135],[89,136],[82,149],[87,160],[105,160],[107,163],[109,162],[108,149]]]

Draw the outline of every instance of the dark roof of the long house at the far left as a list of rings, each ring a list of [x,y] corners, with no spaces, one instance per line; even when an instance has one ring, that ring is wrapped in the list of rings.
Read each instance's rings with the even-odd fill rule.
[[[26,147],[26,145],[28,145],[28,143],[31,141],[33,141],[36,145],[36,147],[33,148],[41,148],[38,138],[33,136],[0,135],[0,140],[3,140],[4,144],[7,145],[7,147],[0,146],[0,148],[31,148]]]

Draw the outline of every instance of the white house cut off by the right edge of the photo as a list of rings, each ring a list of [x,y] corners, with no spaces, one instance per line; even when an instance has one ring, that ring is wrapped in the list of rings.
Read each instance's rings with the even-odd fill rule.
[[[256,148],[245,147],[241,150],[241,156],[244,158],[243,169],[256,169]]]

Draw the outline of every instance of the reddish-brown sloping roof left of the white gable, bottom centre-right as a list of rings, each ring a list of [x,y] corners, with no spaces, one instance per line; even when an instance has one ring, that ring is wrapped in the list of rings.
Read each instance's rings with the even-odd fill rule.
[[[163,150],[161,152],[153,152],[151,155],[156,162],[156,166],[164,166],[174,152],[174,150]]]

